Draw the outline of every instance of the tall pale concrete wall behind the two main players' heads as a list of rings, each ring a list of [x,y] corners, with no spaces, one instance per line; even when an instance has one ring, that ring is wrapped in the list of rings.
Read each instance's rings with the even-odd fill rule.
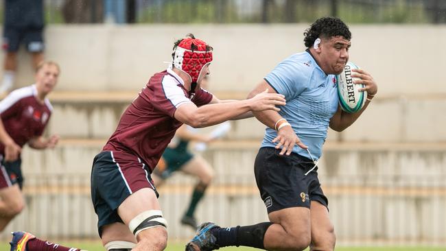
[[[59,91],[138,91],[165,69],[172,45],[192,32],[215,49],[212,90],[250,91],[280,60],[302,51],[307,25],[49,25],[47,58]],[[445,95],[443,25],[351,25],[351,61],[373,74],[379,95]],[[30,82],[22,53],[19,85]],[[436,73],[436,74],[435,74]]]

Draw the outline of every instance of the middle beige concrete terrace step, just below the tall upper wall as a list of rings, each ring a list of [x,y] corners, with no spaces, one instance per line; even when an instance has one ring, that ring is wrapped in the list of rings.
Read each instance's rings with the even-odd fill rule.
[[[54,115],[49,121],[49,133],[64,138],[108,139],[130,99],[110,101],[53,101]],[[445,98],[394,97],[373,99],[371,106],[347,130],[329,130],[329,141],[342,142],[446,142]],[[228,139],[259,140],[265,126],[257,119],[233,121]]]

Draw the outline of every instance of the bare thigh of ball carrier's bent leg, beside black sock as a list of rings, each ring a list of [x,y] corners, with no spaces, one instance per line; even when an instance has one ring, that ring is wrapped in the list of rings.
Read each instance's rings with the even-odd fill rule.
[[[265,248],[286,250],[306,248],[311,238],[310,211],[306,207],[284,208],[268,214],[270,222],[276,223],[266,231]],[[277,225],[279,224],[279,225]]]

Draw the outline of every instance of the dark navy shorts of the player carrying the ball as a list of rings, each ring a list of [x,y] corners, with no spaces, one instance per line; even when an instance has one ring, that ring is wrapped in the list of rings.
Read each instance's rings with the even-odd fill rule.
[[[261,199],[268,213],[296,206],[310,207],[312,200],[328,208],[328,199],[320,188],[317,167],[298,154],[279,155],[274,147],[262,147],[255,158],[254,171]]]

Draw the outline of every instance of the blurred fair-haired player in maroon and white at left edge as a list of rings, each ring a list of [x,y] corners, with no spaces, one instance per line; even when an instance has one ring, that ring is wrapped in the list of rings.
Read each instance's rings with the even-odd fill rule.
[[[52,148],[59,137],[42,134],[53,110],[47,95],[57,84],[60,69],[55,62],[41,62],[36,83],[12,91],[0,101],[0,231],[25,206],[21,188],[21,150],[26,143],[34,149]]]

